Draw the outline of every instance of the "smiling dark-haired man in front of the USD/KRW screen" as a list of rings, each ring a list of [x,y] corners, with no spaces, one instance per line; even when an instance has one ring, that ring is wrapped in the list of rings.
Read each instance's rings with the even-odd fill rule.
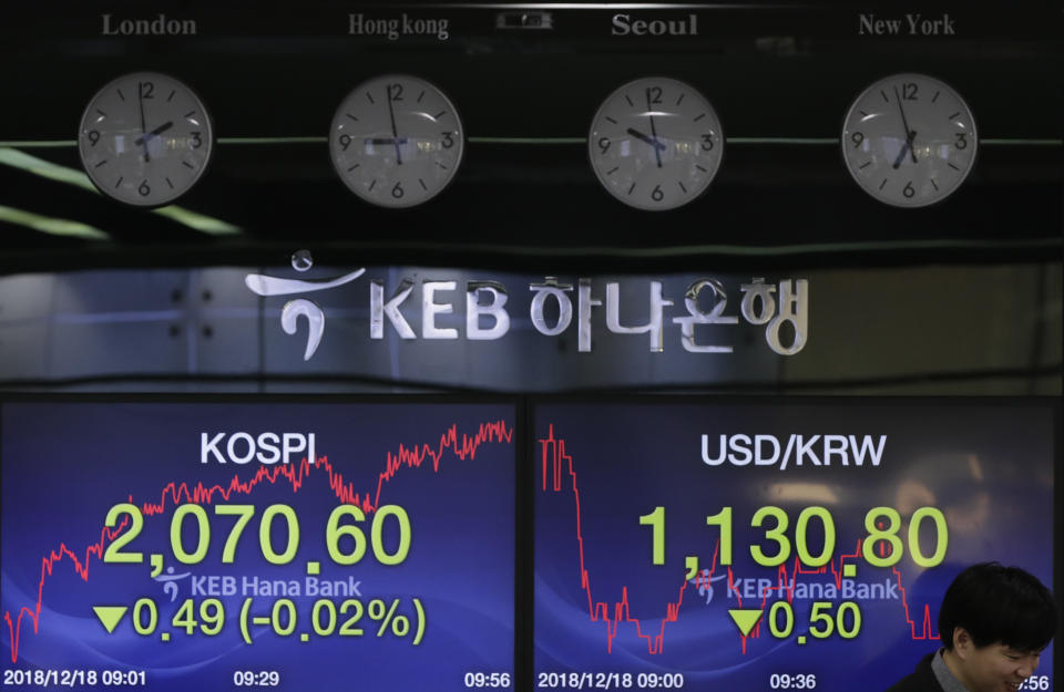
[[[1055,632],[1053,596],[1034,576],[973,565],[942,599],[943,648],[887,692],[1011,692],[1034,673]]]

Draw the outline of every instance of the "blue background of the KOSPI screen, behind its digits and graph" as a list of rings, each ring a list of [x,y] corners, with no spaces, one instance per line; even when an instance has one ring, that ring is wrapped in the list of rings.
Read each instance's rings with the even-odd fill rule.
[[[453,445],[441,443],[454,427],[459,444],[474,440],[482,425],[495,425],[512,435],[512,404],[483,403],[88,403],[19,402],[2,406],[2,548],[0,548],[0,598],[4,622],[0,649],[4,670],[93,669],[144,670],[150,690],[217,690],[234,688],[235,671],[277,671],[283,690],[460,689],[468,671],[513,672],[514,600],[514,473],[512,437],[489,436],[474,453],[459,458]],[[298,489],[280,477],[259,482],[247,493],[228,500],[253,504],[255,516],[244,530],[234,564],[223,565],[222,548],[234,524],[216,516],[205,505],[212,538],[203,562],[183,565],[174,559],[170,525],[174,503],[164,497],[171,483],[228,486],[234,478],[247,482],[259,468],[246,465],[201,463],[201,432],[257,436],[315,433],[316,456],[327,457],[337,474],[360,495],[376,497],[379,474],[389,453],[402,445],[442,450],[438,471],[431,456],[420,467],[400,467],[381,486],[380,504],[401,506],[410,520],[408,558],[385,566],[371,548],[354,566],[335,564],[326,549],[326,523],[338,499],[324,467],[311,469]],[[483,435],[482,435],[483,436]],[[222,450],[225,444],[219,445]],[[239,447],[243,452],[246,447]],[[423,454],[423,452],[422,452]],[[298,462],[303,454],[293,458]],[[280,464],[268,466],[274,469]],[[126,551],[142,551],[142,565],[104,564],[86,548],[101,543],[104,517],[117,503],[163,503],[165,510],[145,516],[144,528]],[[299,550],[289,565],[268,564],[258,539],[263,510],[272,504],[295,508]],[[369,544],[372,514],[362,528]],[[342,524],[351,524],[345,519]],[[195,521],[186,520],[183,540],[195,546]],[[395,520],[383,524],[382,543],[398,545]],[[287,538],[285,523],[272,531],[276,550]],[[106,541],[104,543],[106,545]],[[342,544],[349,551],[350,543]],[[74,569],[69,548],[86,565],[88,579]],[[62,555],[42,583],[42,560]],[[183,575],[180,593],[171,601],[162,582],[150,577],[147,556],[161,552],[166,569]],[[423,640],[412,644],[413,629],[406,637],[376,637],[379,622],[364,614],[362,637],[318,637],[309,626],[317,597],[293,597],[299,626],[289,637],[269,627],[252,627],[254,643],[239,633],[238,616],[244,600],[243,577],[296,580],[305,588],[306,564],[320,562],[323,580],[358,582],[358,600],[391,605],[400,599],[397,614],[411,618],[412,599],[420,598],[427,624]],[[217,596],[226,606],[222,632],[207,637],[198,630],[187,636],[171,624],[178,606],[194,598],[196,606],[208,596],[193,596],[191,579],[234,576],[237,593]],[[39,627],[29,614],[40,590]],[[155,600],[160,624],[153,636],[137,634],[126,613],[114,633],[108,633],[92,606],[129,606],[143,597]],[[269,614],[280,597],[258,597],[256,616]],[[331,599],[337,608],[344,597]],[[337,628],[354,614],[338,616]],[[146,620],[146,616],[144,617]],[[11,622],[9,626],[8,621]],[[13,661],[12,631],[19,627],[18,659]],[[416,626],[415,626],[416,627]],[[170,641],[161,633],[168,631]],[[310,632],[309,641],[299,634]],[[98,683],[99,686],[99,683]]]

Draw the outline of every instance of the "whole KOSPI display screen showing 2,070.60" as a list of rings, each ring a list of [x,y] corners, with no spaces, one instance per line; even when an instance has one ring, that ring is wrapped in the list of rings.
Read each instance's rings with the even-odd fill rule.
[[[515,404],[0,407],[4,686],[513,688]]]

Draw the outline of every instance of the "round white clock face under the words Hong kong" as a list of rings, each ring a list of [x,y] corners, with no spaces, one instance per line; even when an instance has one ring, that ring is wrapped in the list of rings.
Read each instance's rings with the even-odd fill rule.
[[[332,165],[362,199],[412,207],[438,195],[462,163],[454,105],[418,78],[386,74],[355,87],[329,131]]]

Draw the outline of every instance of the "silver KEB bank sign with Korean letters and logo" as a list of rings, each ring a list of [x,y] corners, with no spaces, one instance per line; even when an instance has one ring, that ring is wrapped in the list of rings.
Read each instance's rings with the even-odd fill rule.
[[[293,267],[300,272],[311,264],[308,254],[293,258]],[[458,273],[462,276],[448,276]],[[606,339],[642,339],[651,353],[666,352],[668,344],[676,343],[678,350],[693,354],[729,354],[736,348],[749,348],[789,357],[809,339],[810,289],[800,278],[736,280],[707,273],[677,283],[675,277],[484,273],[358,268],[323,278],[248,273],[245,283],[267,300],[287,299],[280,327],[298,335],[300,324],[306,324],[306,361],[325,338],[330,311],[364,317],[362,338],[370,341],[464,340],[503,347],[520,323],[523,331],[531,329],[543,339],[574,341],[581,354],[593,353]],[[324,304],[327,291],[345,286],[342,304]],[[350,296],[356,297],[355,304]],[[760,338],[749,339],[750,329]],[[350,338],[350,331],[345,329],[345,338]],[[740,338],[740,332],[747,335]]]

